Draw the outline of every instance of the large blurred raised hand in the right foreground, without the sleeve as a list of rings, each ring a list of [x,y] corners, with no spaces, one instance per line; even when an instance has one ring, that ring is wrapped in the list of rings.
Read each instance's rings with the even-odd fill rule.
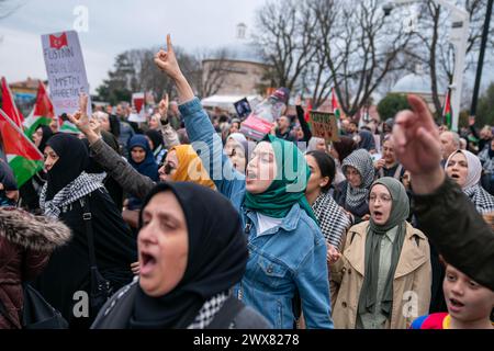
[[[414,190],[428,193],[444,181],[440,167],[439,132],[426,103],[416,95],[408,95],[413,111],[397,114],[393,127],[396,157],[412,173]]]

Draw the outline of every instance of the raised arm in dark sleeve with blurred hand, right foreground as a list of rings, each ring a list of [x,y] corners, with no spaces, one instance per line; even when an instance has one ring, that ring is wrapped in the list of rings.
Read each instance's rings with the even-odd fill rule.
[[[439,133],[426,103],[408,97],[413,111],[396,116],[396,156],[411,172],[420,228],[445,260],[494,291],[494,231],[440,168]]]

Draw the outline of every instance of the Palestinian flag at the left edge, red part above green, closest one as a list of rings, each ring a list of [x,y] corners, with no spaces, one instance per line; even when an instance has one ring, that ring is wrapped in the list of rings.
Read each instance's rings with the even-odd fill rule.
[[[1,147],[20,188],[43,169],[43,155],[1,109],[0,134]]]

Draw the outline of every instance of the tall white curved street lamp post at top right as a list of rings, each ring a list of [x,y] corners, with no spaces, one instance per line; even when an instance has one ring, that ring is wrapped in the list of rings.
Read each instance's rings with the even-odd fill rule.
[[[452,104],[452,125],[451,128],[458,132],[458,122],[460,117],[461,92],[463,89],[463,70],[464,60],[467,56],[467,45],[470,34],[470,16],[469,13],[456,4],[447,0],[431,0],[436,4],[445,7],[451,11],[451,32],[449,33],[449,41],[454,46],[454,73],[451,88],[451,104]],[[393,3],[396,5],[407,5],[420,0],[392,0],[383,5],[384,14],[388,15],[393,9]]]

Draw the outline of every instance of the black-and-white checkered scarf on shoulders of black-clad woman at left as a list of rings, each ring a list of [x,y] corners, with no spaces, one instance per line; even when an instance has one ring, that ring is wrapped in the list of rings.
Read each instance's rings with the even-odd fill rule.
[[[106,173],[88,174],[82,172],[71,183],[56,193],[50,201],[46,201],[48,183],[45,183],[40,195],[41,210],[46,217],[57,219],[60,216],[60,208],[70,205],[97,189],[103,188],[102,182],[105,177]]]

